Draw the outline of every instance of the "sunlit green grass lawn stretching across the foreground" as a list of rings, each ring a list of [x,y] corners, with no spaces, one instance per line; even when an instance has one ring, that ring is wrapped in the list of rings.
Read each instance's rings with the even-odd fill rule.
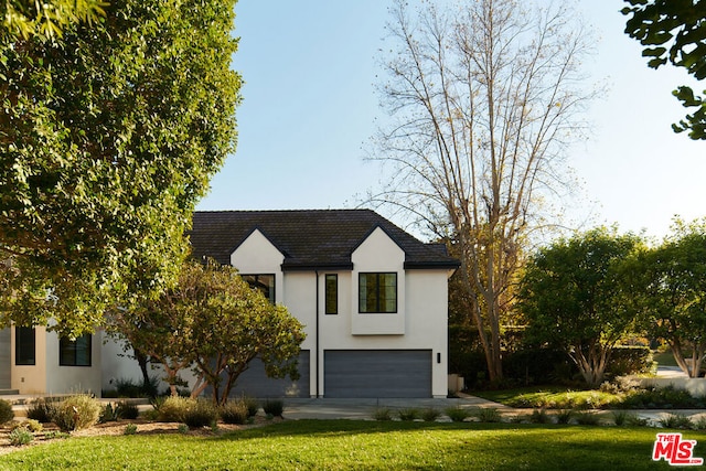
[[[706,457],[706,433],[685,438]],[[654,439],[648,428],[291,420],[210,438],[71,438],[2,456],[0,470],[668,469],[651,461]]]

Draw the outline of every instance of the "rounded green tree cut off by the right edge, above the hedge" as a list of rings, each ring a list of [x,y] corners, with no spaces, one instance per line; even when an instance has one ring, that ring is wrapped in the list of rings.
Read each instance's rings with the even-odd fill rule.
[[[646,329],[672,347],[677,365],[697,377],[706,355],[706,221],[675,221],[673,234],[640,258],[635,291]]]

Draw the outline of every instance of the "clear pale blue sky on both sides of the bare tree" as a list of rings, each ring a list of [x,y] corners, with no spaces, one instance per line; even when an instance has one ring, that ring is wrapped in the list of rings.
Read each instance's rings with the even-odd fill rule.
[[[384,116],[374,84],[387,6],[239,0],[238,146],[197,210],[352,207],[384,179],[363,157]],[[582,181],[569,214],[662,236],[674,214],[706,215],[706,142],[672,132],[684,109],[671,90],[688,77],[671,66],[648,68],[640,45],[623,33],[620,8],[619,0],[577,7],[600,39],[586,72],[609,92],[590,109],[590,140],[568,156]]]

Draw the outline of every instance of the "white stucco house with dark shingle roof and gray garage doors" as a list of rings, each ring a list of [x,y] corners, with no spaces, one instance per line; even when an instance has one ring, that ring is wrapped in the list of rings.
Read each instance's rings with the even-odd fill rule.
[[[298,382],[267,378],[255,364],[233,394],[446,397],[448,278],[459,263],[442,245],[368,210],[196,212],[189,236],[193,257],[233,265],[306,325]],[[12,329],[8,342],[8,376],[21,393],[60,393],[67,383],[99,390],[140,377],[99,334],[77,340],[72,358],[72,345],[38,329],[35,365],[20,365],[22,335]]]

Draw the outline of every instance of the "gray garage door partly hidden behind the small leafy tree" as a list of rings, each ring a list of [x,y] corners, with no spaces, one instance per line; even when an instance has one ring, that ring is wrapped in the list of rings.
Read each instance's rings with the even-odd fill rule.
[[[231,396],[249,397],[309,397],[309,351],[299,353],[299,379],[270,378],[265,374],[265,365],[259,358],[253,360],[250,367],[235,384]]]

